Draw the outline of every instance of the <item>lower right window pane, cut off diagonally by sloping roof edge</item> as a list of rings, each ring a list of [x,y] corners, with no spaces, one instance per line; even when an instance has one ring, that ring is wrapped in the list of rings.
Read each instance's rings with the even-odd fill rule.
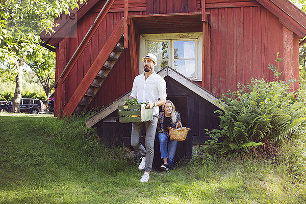
[[[195,60],[175,60],[174,69],[188,78],[195,78]]]

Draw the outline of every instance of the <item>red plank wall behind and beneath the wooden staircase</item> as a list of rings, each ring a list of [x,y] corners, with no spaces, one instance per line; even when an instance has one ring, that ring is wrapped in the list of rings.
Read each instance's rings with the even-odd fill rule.
[[[98,6],[102,8],[103,4]],[[77,49],[78,45],[83,40],[86,32],[95,20],[101,8],[94,7],[90,10],[90,12],[85,14],[78,21],[78,24],[71,28],[70,33],[57,46],[57,62],[61,62],[57,63],[56,65],[57,77],[64,69],[75,49]],[[139,7],[138,9],[141,10],[143,8]],[[141,14],[143,14],[142,11],[129,13],[129,15]],[[104,21],[100,24],[98,30],[95,32],[94,36],[86,46],[84,52],[81,54],[77,64],[75,64],[64,82],[63,91],[61,93],[62,98],[64,99],[64,103],[62,104],[61,109],[63,109],[65,104],[68,103],[73,92],[77,89],[77,86],[80,84],[84,75],[93,63],[95,57],[98,55],[99,51],[104,46],[117,23],[123,16],[123,12],[109,12]],[[123,69],[121,69],[119,72],[119,68]],[[100,108],[101,106],[110,104],[112,101],[122,96],[124,93],[130,91],[132,89],[132,82],[130,51],[129,49],[125,49],[120,55],[119,60],[116,62],[109,76],[105,80],[103,86],[100,88],[95,98],[91,102],[91,107]],[[58,92],[59,90],[56,89],[56,95],[60,96]]]

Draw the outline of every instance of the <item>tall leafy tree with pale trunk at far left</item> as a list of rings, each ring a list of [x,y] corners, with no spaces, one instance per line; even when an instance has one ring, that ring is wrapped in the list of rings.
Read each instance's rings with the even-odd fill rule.
[[[16,82],[13,112],[19,112],[23,66],[38,49],[38,35],[54,32],[54,19],[79,4],[83,0],[0,0],[0,62],[5,65],[0,71]]]

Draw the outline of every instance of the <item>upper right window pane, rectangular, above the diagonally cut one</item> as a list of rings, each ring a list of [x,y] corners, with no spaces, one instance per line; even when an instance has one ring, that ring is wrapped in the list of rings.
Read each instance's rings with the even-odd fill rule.
[[[195,41],[174,41],[174,59],[195,58]]]

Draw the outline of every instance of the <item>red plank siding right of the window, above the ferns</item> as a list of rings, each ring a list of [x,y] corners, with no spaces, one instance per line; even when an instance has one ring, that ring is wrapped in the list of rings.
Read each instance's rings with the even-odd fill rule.
[[[279,79],[298,80],[297,57],[294,58],[298,37],[294,38],[293,32],[265,8],[217,8],[210,9],[210,15],[214,95],[221,97],[229,89],[235,91],[238,82],[245,83],[251,78],[273,80],[267,66],[268,63],[276,66],[277,52],[286,58],[279,63],[279,70],[283,71]],[[294,88],[297,87],[295,84]]]

